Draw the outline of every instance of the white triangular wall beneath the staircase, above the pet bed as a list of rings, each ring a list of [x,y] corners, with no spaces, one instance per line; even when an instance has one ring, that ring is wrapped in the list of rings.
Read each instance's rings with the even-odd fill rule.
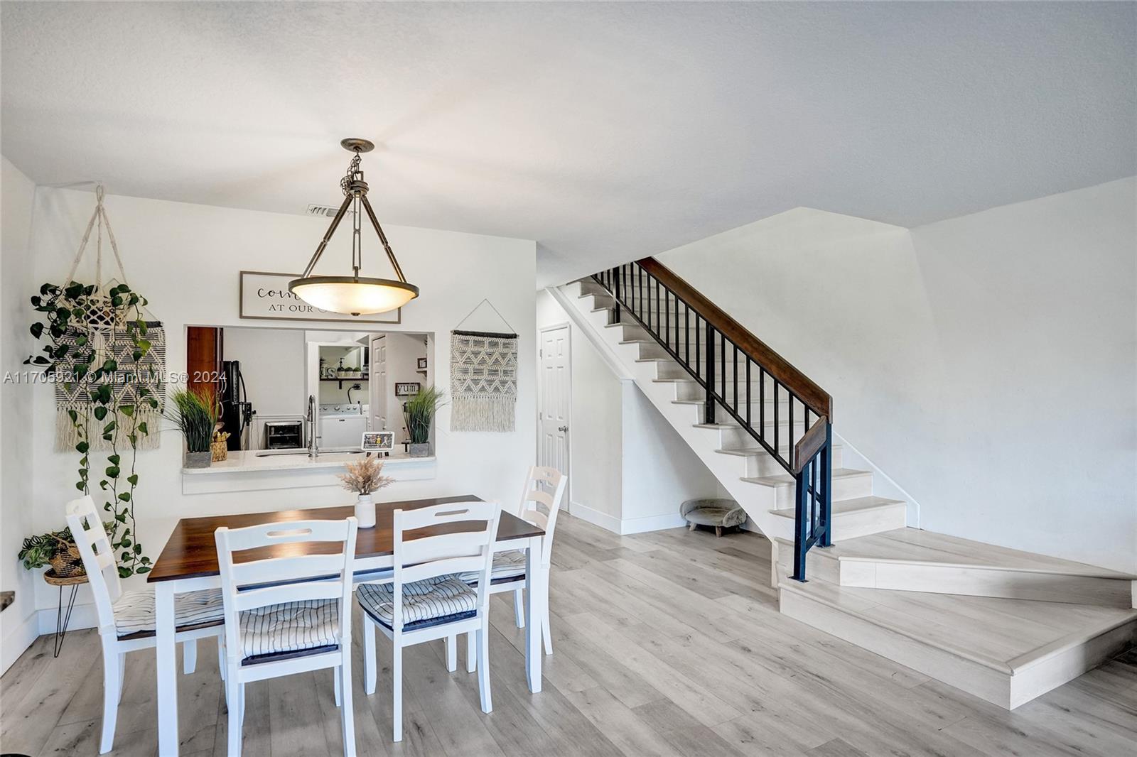
[[[568,322],[547,291],[538,328]],[[617,533],[682,525],[679,505],[725,496],[717,480],[631,380],[621,381],[582,330],[570,326],[570,511]]]

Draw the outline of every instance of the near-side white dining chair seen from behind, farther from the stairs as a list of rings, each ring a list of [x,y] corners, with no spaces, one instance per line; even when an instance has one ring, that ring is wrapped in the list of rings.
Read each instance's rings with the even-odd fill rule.
[[[351,710],[351,567],[357,523],[290,521],[214,532],[225,607],[229,754],[240,757],[244,685],[333,669],[343,754],[355,755]],[[233,552],[279,544],[340,543],[333,554],[233,560]]]

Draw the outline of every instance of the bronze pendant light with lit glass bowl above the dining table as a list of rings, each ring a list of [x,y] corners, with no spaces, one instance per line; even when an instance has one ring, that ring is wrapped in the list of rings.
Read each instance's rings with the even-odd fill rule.
[[[375,211],[371,209],[367,201],[367,182],[363,180],[363,169],[359,167],[359,155],[371,152],[375,145],[367,140],[346,139],[340,142],[345,150],[355,152],[351,164],[348,166],[347,175],[340,180],[340,189],[343,191],[343,202],[332,218],[332,225],[324,233],[324,239],[316,247],[316,252],[308,261],[308,267],[299,278],[289,282],[290,292],[299,297],[308,305],[321,310],[332,313],[347,313],[354,316],[363,314],[387,313],[400,308],[410,300],[418,297],[418,288],[408,284],[402,275],[399,261],[395,259],[395,252],[387,241],[383,227],[375,218]],[[312,271],[319,261],[319,256],[324,253],[324,248],[331,241],[332,234],[343,219],[343,215],[352,210],[351,230],[351,275],[350,276],[314,276]],[[363,267],[363,236],[359,226],[363,214],[367,214],[371,225],[379,235],[379,241],[387,251],[387,258],[395,268],[396,278],[370,278],[359,275]]]

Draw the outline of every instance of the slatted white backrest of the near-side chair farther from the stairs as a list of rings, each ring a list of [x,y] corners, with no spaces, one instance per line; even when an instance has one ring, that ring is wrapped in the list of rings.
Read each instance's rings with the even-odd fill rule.
[[[240,614],[285,602],[338,599],[340,643],[351,643],[351,585],[355,563],[356,519],[264,523],[244,529],[221,527],[214,532],[221,590],[225,606],[225,643],[239,655]],[[284,557],[238,563],[234,552],[279,544],[335,543],[333,554],[309,555],[300,548]]]

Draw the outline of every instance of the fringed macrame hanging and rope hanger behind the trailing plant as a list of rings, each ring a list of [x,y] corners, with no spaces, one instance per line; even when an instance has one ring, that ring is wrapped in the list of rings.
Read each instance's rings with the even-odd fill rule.
[[[57,350],[60,344],[66,344],[68,348],[65,357],[57,360],[57,375],[59,378],[72,378],[55,382],[57,451],[74,450],[75,446],[83,441],[82,426],[74,421],[72,414],[89,416],[96,405],[91,393],[101,385],[109,386],[110,391],[109,401],[102,401],[101,405],[132,408],[132,425],[147,430],[144,433],[135,433],[135,449],[156,449],[161,440],[161,434],[157,432],[166,394],[166,333],[161,323],[146,313],[144,300],[132,308],[125,293],[128,290],[123,286],[124,292],[121,294],[118,291],[118,284],[126,284],[126,271],[123,268],[118,243],[110,228],[110,219],[107,217],[102,198],[102,185],[99,185],[96,189],[94,213],[86,224],[83,240],[61,288],[64,293],[78,291],[75,273],[94,230],[93,290],[86,293],[90,288],[84,288],[82,294],[73,298],[84,315],[68,321],[67,327],[61,334],[56,335],[55,340]],[[106,284],[102,282],[103,226],[107,230],[107,241],[114,252],[115,263],[118,265],[121,282],[114,278]],[[147,349],[139,349],[140,341],[148,346]],[[76,375],[76,357],[88,348],[94,352],[93,365],[106,366],[110,360],[117,369],[101,374],[94,381],[89,377],[90,374]],[[149,401],[150,399],[157,400],[157,407]],[[110,450],[115,446],[115,442],[105,434],[91,434],[89,443],[91,450],[102,451]]]

